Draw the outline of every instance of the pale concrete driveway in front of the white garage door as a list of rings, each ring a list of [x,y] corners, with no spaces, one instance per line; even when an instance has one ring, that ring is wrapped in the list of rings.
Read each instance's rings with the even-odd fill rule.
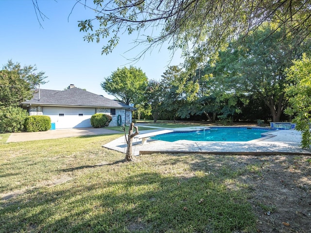
[[[111,133],[121,133],[107,128],[79,128],[79,129],[61,129],[61,130],[48,130],[41,132],[22,132],[11,133],[6,142],[23,142],[44,139],[55,139],[62,137],[77,137],[86,135],[102,135]]]

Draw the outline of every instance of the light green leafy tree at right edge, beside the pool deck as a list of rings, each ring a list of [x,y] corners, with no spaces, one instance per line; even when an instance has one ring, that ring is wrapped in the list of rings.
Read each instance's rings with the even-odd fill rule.
[[[289,107],[285,113],[295,116],[295,129],[302,132],[301,145],[311,146],[311,59],[304,54],[301,60],[295,60],[294,65],[286,69],[289,85],[286,95],[289,97]]]

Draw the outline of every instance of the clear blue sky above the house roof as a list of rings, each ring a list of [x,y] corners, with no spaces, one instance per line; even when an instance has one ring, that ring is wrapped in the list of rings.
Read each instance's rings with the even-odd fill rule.
[[[118,67],[139,67],[148,79],[159,80],[168,66],[182,62],[180,53],[171,59],[167,46],[155,48],[136,63],[135,57],[144,47],[134,46],[133,36],[122,35],[121,43],[111,54],[101,55],[104,42],[88,43],[79,32],[78,20],[93,18],[92,11],[75,0],[37,0],[40,10],[49,18],[36,18],[31,0],[0,0],[0,68],[12,59],[14,63],[36,65],[44,71],[48,83],[44,89],[63,90],[69,84],[109,98],[100,83]],[[70,15],[70,16],[69,16]],[[159,51],[160,50],[160,51]],[[128,52],[126,52],[128,51]]]

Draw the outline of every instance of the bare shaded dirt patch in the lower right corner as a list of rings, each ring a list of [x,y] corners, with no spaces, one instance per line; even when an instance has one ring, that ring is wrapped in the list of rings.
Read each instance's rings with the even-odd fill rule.
[[[231,162],[248,166],[238,181],[250,189],[257,232],[311,233],[311,157],[239,156]]]

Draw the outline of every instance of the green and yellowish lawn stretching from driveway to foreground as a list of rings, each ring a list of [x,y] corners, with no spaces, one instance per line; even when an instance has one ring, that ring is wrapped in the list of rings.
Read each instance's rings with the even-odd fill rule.
[[[126,163],[102,148],[119,136],[0,139],[0,233],[256,232],[249,187],[237,181],[254,167],[199,154]]]

